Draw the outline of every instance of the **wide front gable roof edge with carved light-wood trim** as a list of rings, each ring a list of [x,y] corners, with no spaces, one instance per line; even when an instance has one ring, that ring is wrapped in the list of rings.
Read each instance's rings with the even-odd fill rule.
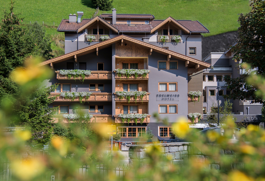
[[[92,53],[92,52],[96,51],[97,49],[98,50],[105,49],[106,47],[112,46],[113,43],[120,42],[122,39],[128,43],[132,43],[134,45],[141,46],[142,48],[152,49],[153,51],[156,51],[160,54],[171,55],[171,57],[182,60],[182,61],[189,61],[188,68],[193,68],[193,66],[195,66],[196,64],[199,64],[200,66],[199,66],[198,70],[203,70],[203,69],[206,69],[207,67],[210,67],[210,65],[211,65],[209,63],[206,63],[206,62],[203,62],[203,61],[200,61],[197,59],[193,59],[189,56],[185,56],[185,55],[176,53],[174,51],[167,50],[167,49],[161,48],[159,46],[155,46],[155,45],[131,38],[131,37],[126,36],[126,35],[119,35],[119,36],[116,36],[114,38],[108,39],[106,41],[102,41],[100,43],[94,44],[92,46],[89,46],[89,47],[86,47],[86,48],[83,48],[80,50],[76,50],[76,51],[70,52],[68,54],[64,54],[62,56],[58,56],[58,57],[50,59],[50,60],[46,60],[46,61],[40,63],[39,66],[50,64],[50,63],[63,62],[65,60],[73,59],[75,57],[75,55],[76,56],[82,56],[85,54]]]

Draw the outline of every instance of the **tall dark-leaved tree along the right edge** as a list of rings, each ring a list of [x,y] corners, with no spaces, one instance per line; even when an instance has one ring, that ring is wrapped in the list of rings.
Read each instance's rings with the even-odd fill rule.
[[[249,13],[240,14],[237,44],[231,48],[235,62],[242,60],[239,67],[245,69],[246,72],[242,77],[234,79],[225,76],[228,89],[232,90],[231,94],[226,97],[233,100],[253,100],[253,102],[263,103],[264,99],[255,94],[257,86],[253,85],[254,81],[247,83],[247,79],[253,70],[255,74],[265,77],[265,1],[253,0],[250,1],[250,6],[252,9]]]

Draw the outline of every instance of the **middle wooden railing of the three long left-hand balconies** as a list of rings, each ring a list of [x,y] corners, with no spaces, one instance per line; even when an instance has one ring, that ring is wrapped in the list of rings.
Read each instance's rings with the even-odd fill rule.
[[[51,93],[51,95],[59,95],[60,93]],[[63,96],[58,96],[55,100],[55,102],[58,101],[72,101],[72,99],[66,99]],[[73,102],[78,102],[79,98],[75,98]],[[112,101],[112,93],[92,93],[91,96],[88,99],[82,99],[82,101]]]

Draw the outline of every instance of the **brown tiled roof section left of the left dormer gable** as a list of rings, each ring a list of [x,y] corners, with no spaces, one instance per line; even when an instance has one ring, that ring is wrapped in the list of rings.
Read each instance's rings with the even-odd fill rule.
[[[57,28],[57,31],[76,31],[78,28],[82,27],[86,23],[88,23],[90,19],[83,19],[81,23],[69,23],[69,20],[63,19]]]

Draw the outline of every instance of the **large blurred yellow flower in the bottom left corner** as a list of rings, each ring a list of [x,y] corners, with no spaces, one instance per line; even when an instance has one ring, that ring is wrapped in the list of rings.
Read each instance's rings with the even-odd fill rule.
[[[13,163],[13,174],[20,180],[32,180],[45,170],[45,166],[42,162],[43,161],[39,159],[16,160]]]

